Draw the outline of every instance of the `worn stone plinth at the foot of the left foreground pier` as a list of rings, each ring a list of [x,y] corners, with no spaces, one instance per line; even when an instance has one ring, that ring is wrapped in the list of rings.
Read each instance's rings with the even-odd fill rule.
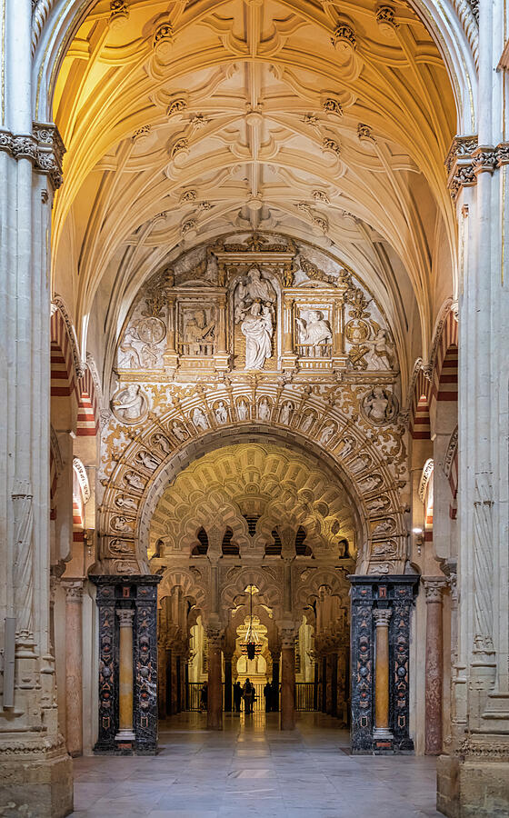
[[[73,763],[64,749],[40,754],[5,751],[0,748],[2,815],[64,818],[73,812]]]

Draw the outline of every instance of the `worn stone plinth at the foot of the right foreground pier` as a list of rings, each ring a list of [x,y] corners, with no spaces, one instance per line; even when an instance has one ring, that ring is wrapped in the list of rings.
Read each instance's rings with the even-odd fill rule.
[[[440,755],[436,762],[436,808],[448,818],[506,818],[509,815],[509,737],[485,743],[482,757]],[[505,758],[496,753],[506,745]],[[493,757],[489,754],[493,753]],[[507,753],[507,754],[505,754]]]

